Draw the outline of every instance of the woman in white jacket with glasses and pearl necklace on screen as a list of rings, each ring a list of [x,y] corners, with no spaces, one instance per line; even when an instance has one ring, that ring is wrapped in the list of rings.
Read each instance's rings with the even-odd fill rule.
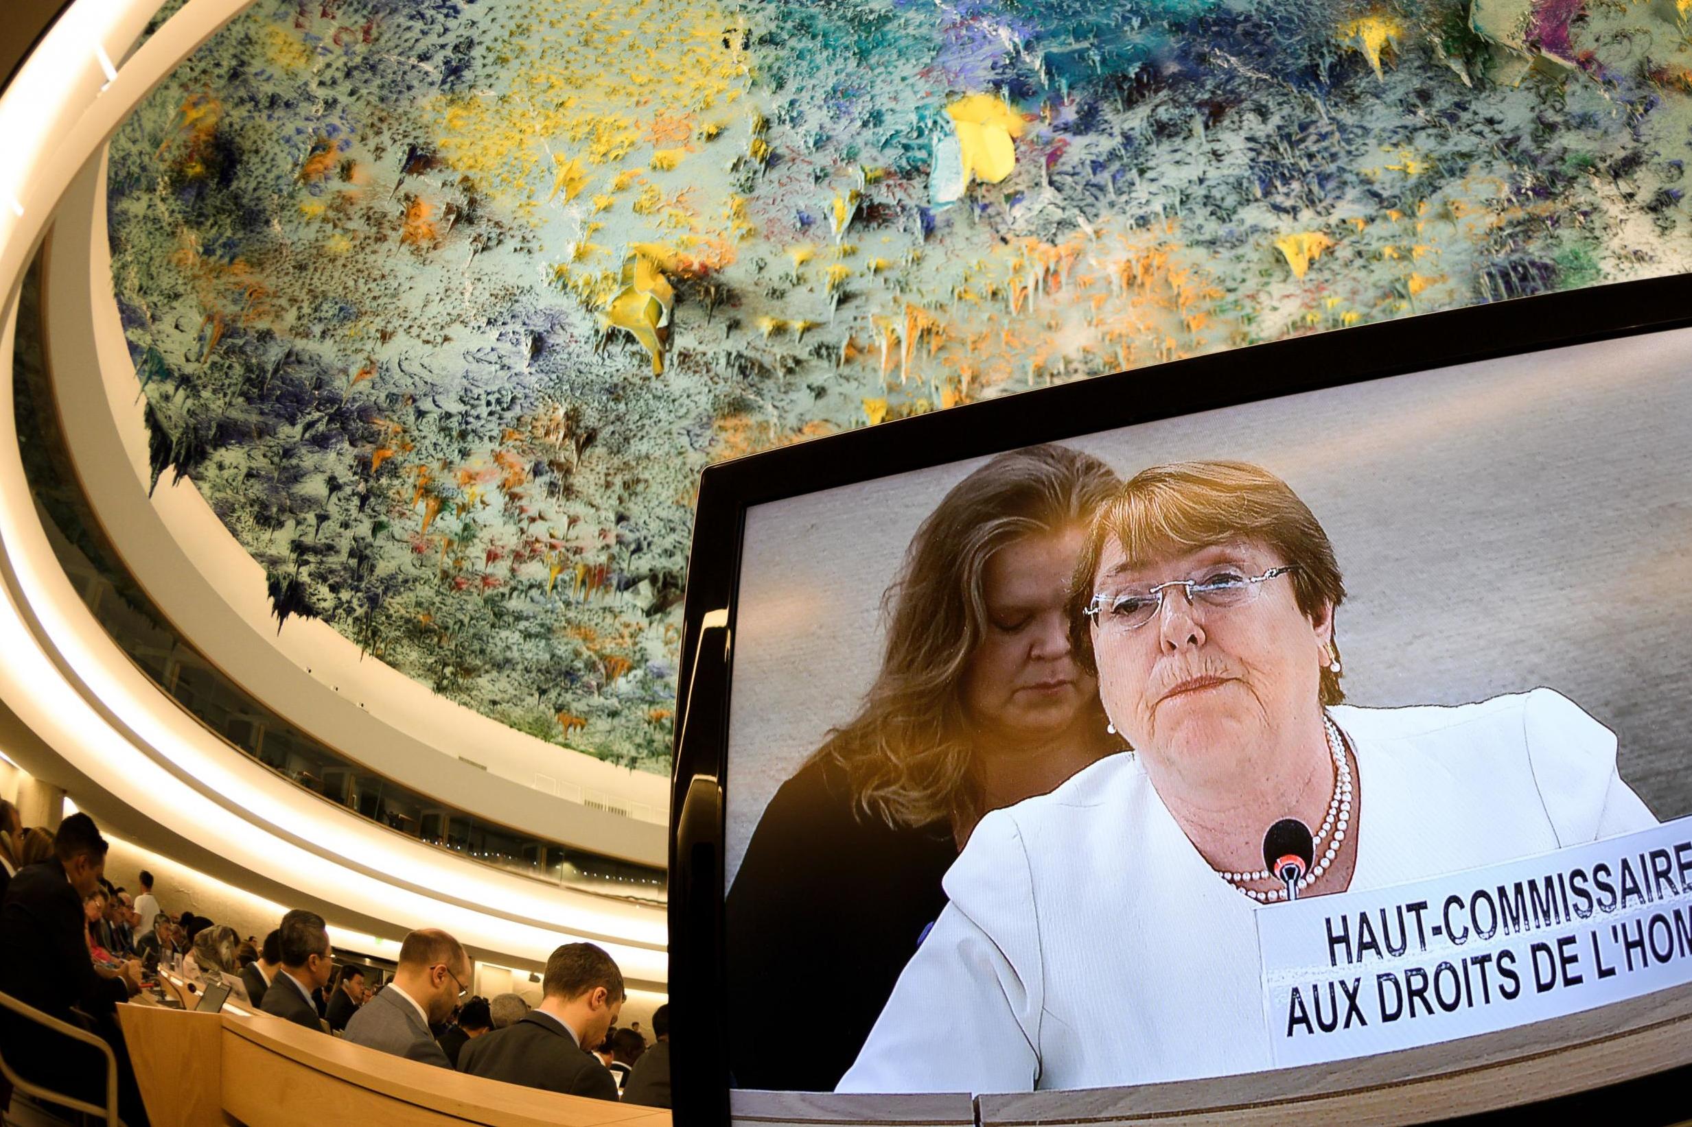
[[[1071,596],[1112,755],[988,814],[841,1092],[1090,1088],[1271,1066],[1254,912],[1264,830],[1316,836],[1299,896],[1376,889],[1651,826],[1616,738],[1550,689],[1349,708],[1321,525],[1227,461],[1145,470]]]

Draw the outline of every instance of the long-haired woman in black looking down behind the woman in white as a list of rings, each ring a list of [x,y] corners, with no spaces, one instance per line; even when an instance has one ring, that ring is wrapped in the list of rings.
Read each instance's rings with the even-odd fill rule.
[[[1064,607],[1117,488],[1096,458],[1034,446],[966,476],[917,529],[861,710],[777,791],[728,896],[731,995],[807,1029],[731,1039],[736,1086],[832,1090],[976,823],[1122,749]]]

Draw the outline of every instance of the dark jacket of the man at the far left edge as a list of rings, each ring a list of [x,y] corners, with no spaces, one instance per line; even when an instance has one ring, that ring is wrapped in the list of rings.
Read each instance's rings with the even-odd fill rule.
[[[71,1007],[112,1014],[129,988],[95,973],[86,931],[83,897],[56,857],[19,868],[0,907],[0,990],[61,1021]]]

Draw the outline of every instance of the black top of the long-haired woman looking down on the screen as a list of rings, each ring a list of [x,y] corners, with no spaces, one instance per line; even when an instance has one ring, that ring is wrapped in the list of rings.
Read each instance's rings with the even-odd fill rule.
[[[736,1088],[834,1090],[946,907],[954,860],[948,821],[893,830],[854,813],[832,757],[782,784],[724,909],[726,997],[756,999],[763,1015],[729,1026]],[[805,1036],[768,1036],[777,1015]]]

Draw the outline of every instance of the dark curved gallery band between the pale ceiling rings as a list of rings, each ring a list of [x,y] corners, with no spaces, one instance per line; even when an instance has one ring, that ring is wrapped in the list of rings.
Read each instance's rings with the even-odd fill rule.
[[[135,583],[88,507],[42,348],[41,259],[24,282],[14,399],[19,448],[52,549],[88,610],[147,678],[230,747],[325,801],[394,833],[580,892],[662,904],[665,872],[540,840],[386,779],[301,732],[183,639]]]

